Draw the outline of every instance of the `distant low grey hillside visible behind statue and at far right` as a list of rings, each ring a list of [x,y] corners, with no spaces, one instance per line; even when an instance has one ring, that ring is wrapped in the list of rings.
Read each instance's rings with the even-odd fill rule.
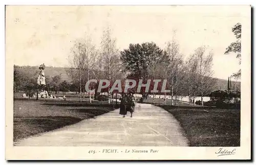
[[[22,69],[24,72],[26,72],[25,70],[38,70],[38,66],[14,66],[14,67],[19,67],[20,69]],[[66,70],[68,70],[69,68],[65,68],[65,67],[50,67],[50,66],[46,66],[44,72],[46,76],[49,77],[54,77],[57,75],[61,76],[61,80],[64,81],[71,81],[70,77],[67,75]],[[235,89],[236,88],[240,88],[240,82],[239,81],[231,81],[231,89],[233,89],[233,84],[235,84]],[[214,87],[215,90],[225,90],[227,89],[227,80],[223,80],[223,79],[217,79],[216,78],[216,85]]]

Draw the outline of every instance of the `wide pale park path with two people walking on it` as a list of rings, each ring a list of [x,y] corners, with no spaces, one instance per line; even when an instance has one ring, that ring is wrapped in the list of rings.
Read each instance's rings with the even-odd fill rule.
[[[187,139],[174,116],[150,104],[136,104],[122,118],[114,110],[38,136],[15,146],[187,146]]]

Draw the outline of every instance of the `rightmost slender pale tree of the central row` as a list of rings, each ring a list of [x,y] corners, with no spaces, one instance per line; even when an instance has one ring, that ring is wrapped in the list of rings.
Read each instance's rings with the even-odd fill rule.
[[[197,59],[197,74],[199,76],[199,84],[200,84],[200,94],[201,94],[201,102],[203,106],[203,96],[209,93],[212,90],[212,86],[215,84],[215,80],[211,78],[212,72],[212,57],[213,54],[210,51],[207,56],[205,56],[206,47],[200,46],[195,51],[195,56]]]

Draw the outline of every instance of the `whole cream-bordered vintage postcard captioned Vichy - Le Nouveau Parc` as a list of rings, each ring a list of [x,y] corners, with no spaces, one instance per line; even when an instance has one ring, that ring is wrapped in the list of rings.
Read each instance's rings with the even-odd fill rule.
[[[251,159],[251,6],[6,6],[7,160]]]

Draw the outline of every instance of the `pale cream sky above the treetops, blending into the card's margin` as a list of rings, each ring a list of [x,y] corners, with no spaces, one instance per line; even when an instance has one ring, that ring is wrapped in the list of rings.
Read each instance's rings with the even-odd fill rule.
[[[186,58],[208,45],[213,77],[227,79],[240,65],[235,54],[224,52],[236,40],[232,27],[244,17],[236,6],[8,6],[6,54],[15,65],[68,67],[76,39],[90,36],[99,48],[109,27],[120,51],[151,41],[164,49],[175,37]]]

